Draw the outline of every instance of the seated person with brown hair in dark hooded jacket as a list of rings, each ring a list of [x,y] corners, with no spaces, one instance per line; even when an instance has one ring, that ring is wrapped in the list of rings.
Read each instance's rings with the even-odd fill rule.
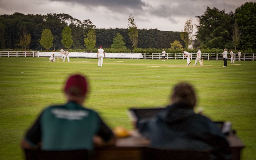
[[[149,120],[138,120],[139,132],[159,149],[211,150],[212,159],[231,159],[225,135],[207,117],[196,114],[193,87],[181,83],[174,87],[172,103]]]

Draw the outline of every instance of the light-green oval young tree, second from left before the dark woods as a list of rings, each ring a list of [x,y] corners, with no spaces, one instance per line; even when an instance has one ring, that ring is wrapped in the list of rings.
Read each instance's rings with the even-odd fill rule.
[[[49,51],[53,45],[53,35],[50,29],[44,29],[42,32],[41,39],[39,40],[40,44]]]

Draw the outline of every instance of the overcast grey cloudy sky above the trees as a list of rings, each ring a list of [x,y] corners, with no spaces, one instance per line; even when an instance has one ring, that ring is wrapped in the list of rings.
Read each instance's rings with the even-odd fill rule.
[[[127,28],[132,13],[138,28],[184,30],[186,20],[204,14],[206,7],[235,12],[256,0],[0,0],[0,14],[66,13],[78,20],[91,20],[96,28]],[[196,27],[194,27],[194,32]]]

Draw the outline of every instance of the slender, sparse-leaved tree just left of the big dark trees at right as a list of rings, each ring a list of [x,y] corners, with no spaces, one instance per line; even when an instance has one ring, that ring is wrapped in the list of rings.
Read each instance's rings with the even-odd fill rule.
[[[180,32],[180,37],[181,39],[185,42],[186,44],[186,48],[188,48],[188,46],[190,44],[192,44],[193,39],[194,39],[194,35],[193,35],[193,23],[192,23],[193,19],[189,18],[186,22],[185,22],[185,26],[184,26],[184,31],[181,30]]]

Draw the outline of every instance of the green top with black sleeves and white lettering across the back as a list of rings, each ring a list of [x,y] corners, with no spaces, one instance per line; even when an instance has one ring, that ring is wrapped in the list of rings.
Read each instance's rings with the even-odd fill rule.
[[[46,108],[26,140],[32,146],[41,142],[42,150],[92,150],[95,135],[105,141],[114,136],[95,111],[69,102]]]

